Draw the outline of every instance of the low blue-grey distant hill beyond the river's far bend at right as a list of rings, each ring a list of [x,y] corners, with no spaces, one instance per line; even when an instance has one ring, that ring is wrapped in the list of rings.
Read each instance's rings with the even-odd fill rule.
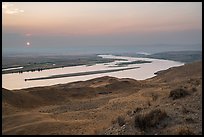
[[[202,60],[202,51],[169,51],[147,55],[146,57],[190,63]]]

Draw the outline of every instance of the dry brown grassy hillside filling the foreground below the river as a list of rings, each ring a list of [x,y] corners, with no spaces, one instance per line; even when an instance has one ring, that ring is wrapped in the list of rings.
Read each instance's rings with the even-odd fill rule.
[[[2,134],[202,134],[202,62],[142,81],[2,89]]]

